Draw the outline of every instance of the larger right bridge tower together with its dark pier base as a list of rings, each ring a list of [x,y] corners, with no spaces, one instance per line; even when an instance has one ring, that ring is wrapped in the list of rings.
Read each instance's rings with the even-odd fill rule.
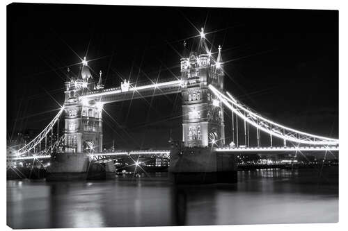
[[[202,38],[200,44],[204,43]],[[183,144],[171,150],[169,172],[174,182],[237,182],[234,156],[214,151],[225,145],[223,105],[208,87],[223,89],[220,49],[216,62],[205,47],[181,59]]]

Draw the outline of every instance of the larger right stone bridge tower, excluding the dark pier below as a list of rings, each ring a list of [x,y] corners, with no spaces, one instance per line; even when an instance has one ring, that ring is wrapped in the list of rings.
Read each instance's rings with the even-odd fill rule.
[[[184,48],[186,49],[186,48]],[[185,55],[185,54],[184,54]],[[187,147],[225,144],[223,105],[208,85],[223,90],[221,47],[217,59],[200,38],[198,51],[180,59],[182,87],[182,141]]]

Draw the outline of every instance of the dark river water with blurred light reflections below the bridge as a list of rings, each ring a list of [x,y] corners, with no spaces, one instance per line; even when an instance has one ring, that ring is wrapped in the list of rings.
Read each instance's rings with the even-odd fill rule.
[[[12,228],[338,222],[338,167],[239,171],[234,185],[166,173],[90,182],[7,181]]]

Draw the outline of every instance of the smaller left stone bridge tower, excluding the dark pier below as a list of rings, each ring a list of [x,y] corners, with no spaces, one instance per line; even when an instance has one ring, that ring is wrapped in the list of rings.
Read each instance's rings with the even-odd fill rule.
[[[86,58],[77,77],[68,71],[65,82],[65,153],[102,152],[102,103],[88,101],[84,95],[93,89],[102,89],[102,73],[97,85],[90,81],[92,75]]]

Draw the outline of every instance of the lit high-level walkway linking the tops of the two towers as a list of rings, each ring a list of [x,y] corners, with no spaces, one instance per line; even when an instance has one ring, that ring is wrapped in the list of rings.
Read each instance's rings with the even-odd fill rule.
[[[161,96],[165,94],[180,93],[182,80],[180,78],[169,78],[161,83],[151,83],[146,85],[137,84],[129,87],[114,87],[88,92],[81,99],[97,100],[102,103],[113,103],[127,101],[131,99],[142,99],[150,96]]]

